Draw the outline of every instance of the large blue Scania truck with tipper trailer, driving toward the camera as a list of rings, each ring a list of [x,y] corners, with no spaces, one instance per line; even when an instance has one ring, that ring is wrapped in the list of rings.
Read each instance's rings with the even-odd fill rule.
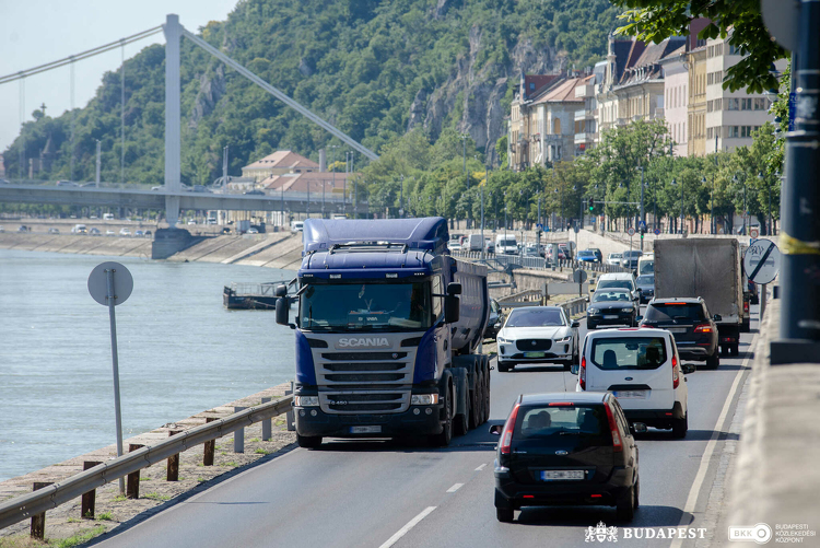
[[[490,415],[487,267],[449,255],[443,218],[308,219],[291,323],[302,447],[425,436],[444,446]]]

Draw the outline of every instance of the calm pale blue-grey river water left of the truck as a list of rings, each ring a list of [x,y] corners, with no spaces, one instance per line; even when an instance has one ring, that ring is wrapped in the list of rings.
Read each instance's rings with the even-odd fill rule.
[[[91,270],[124,264],[116,308],[124,438],[293,378],[293,331],[227,311],[222,287],[292,271],[0,249],[0,481],[115,443],[108,308]]]

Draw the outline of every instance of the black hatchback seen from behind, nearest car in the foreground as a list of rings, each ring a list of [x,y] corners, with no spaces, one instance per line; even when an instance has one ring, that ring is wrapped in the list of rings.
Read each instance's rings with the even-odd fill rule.
[[[634,432],[611,393],[518,396],[495,457],[495,513],[512,522],[523,506],[616,506],[632,521],[640,481]]]

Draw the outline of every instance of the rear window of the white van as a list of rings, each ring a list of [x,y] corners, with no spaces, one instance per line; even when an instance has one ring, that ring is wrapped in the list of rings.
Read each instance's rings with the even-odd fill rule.
[[[602,370],[658,369],[666,361],[666,343],[663,337],[597,338],[591,360]]]

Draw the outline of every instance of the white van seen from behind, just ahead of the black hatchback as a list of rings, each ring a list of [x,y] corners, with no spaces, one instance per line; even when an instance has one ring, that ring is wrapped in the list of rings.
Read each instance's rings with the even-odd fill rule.
[[[573,366],[573,372],[576,372]],[[576,392],[611,392],[630,422],[689,429],[687,378],[675,338],[665,329],[606,329],[584,339]]]

